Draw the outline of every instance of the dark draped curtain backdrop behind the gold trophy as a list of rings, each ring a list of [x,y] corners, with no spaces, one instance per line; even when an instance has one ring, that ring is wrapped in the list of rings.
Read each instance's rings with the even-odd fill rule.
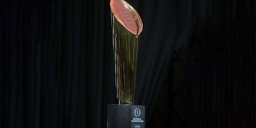
[[[255,0],[126,1],[143,22],[146,127],[255,127]],[[0,127],[106,128],[117,104],[109,2],[0,1]]]

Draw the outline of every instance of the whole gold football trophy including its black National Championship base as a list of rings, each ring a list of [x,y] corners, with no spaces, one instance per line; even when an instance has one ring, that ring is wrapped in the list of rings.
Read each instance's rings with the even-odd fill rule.
[[[108,105],[107,128],[144,128],[145,106],[134,105],[142,20],[124,0],[110,0],[118,104]]]

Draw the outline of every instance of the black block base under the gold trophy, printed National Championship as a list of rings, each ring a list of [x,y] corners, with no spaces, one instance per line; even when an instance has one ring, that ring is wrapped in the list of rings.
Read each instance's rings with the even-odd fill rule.
[[[109,104],[107,118],[107,128],[145,128],[145,106]]]

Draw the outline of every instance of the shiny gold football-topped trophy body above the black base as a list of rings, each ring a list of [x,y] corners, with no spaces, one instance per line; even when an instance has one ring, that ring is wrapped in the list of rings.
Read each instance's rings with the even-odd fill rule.
[[[134,104],[142,20],[136,10],[124,0],[110,0],[110,8],[116,95],[119,104]]]

